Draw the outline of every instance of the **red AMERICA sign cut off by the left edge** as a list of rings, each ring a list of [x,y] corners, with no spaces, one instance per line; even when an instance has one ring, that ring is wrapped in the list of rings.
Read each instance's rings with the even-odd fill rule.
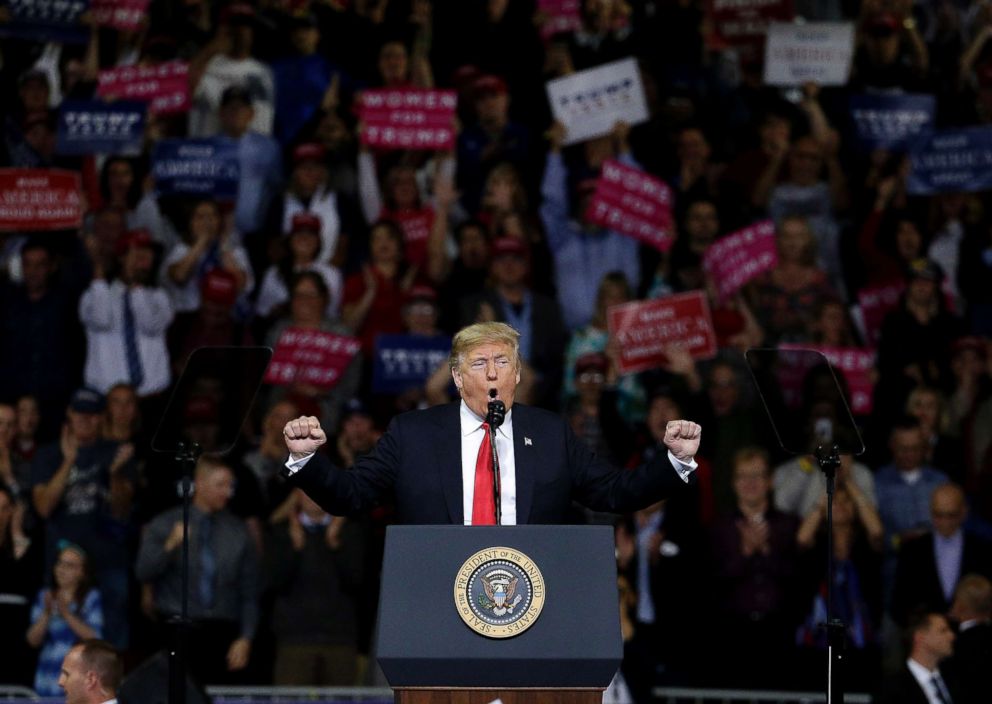
[[[80,178],[59,169],[0,169],[0,231],[72,230],[83,224]]]

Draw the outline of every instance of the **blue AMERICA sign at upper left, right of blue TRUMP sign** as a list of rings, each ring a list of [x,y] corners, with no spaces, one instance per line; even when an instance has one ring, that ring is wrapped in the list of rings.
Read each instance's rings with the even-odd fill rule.
[[[238,145],[215,137],[163,139],[152,150],[152,174],[159,196],[238,197]]]

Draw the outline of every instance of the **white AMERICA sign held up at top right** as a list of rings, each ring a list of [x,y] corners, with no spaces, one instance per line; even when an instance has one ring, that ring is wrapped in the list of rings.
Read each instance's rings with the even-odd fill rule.
[[[765,43],[765,83],[844,85],[853,57],[853,22],[772,22]]]

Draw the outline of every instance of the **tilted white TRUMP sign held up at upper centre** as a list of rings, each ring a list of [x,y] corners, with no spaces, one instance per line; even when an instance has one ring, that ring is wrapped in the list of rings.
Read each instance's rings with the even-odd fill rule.
[[[648,119],[641,74],[634,59],[621,59],[547,83],[555,119],[565,125],[565,144],[609,134],[617,122]]]

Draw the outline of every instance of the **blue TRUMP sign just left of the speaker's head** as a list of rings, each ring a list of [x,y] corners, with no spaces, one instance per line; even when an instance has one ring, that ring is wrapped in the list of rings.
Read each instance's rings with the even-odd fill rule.
[[[451,338],[444,335],[379,335],[375,340],[372,391],[400,394],[424,385],[451,352]]]

